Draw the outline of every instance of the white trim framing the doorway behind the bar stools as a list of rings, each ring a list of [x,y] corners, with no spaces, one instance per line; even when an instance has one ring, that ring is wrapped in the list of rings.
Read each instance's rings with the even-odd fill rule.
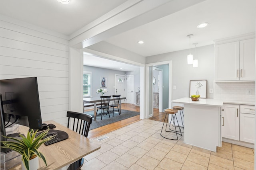
[[[150,90],[150,66],[156,66],[156,65],[163,65],[163,64],[169,64],[169,100],[168,100],[168,107],[171,108],[172,107],[172,61],[162,61],[162,62],[157,62],[157,63],[148,63],[146,64],[146,84],[145,84],[145,87],[146,87],[146,92],[148,93],[145,93],[145,118],[148,119],[149,118],[149,115],[151,113],[153,113],[153,106],[150,105],[150,99],[149,99],[149,90]],[[152,90],[151,90],[152,92]],[[152,100],[151,100],[152,101]],[[150,107],[151,106],[151,107]]]

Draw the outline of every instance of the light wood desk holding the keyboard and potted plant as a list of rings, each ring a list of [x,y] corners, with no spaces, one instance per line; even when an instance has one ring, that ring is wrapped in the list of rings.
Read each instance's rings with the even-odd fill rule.
[[[60,125],[55,121],[45,121],[44,123],[52,123],[56,126],[56,130],[65,131],[68,133],[68,139],[54,143],[52,145],[41,145],[39,151],[41,151],[45,158],[48,167],[45,166],[44,161],[39,158],[38,170],[59,170],[62,167],[68,166],[79,160],[80,158],[100,149],[100,146],[90,141],[90,139]],[[19,132],[27,135],[28,127],[19,126]],[[21,164],[12,167],[10,170],[20,170]]]

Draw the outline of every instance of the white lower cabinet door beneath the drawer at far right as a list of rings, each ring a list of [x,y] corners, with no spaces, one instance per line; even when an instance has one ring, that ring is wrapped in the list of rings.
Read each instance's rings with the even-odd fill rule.
[[[255,115],[240,113],[240,141],[254,143]]]

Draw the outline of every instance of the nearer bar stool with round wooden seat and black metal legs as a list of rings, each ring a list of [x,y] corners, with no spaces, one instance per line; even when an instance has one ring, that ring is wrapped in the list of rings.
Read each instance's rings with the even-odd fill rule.
[[[160,135],[161,135],[162,137],[164,137],[165,139],[178,140],[178,135],[181,135],[181,136],[182,136],[181,129],[180,129],[180,126],[179,126],[179,123],[178,123],[178,119],[177,119],[177,117],[176,117],[176,113],[178,113],[178,110],[175,110],[175,109],[165,109],[165,110],[164,110],[164,113],[165,113],[164,123],[165,123],[165,119],[166,119],[166,115],[167,115],[165,131],[166,131],[166,132],[176,133],[176,137],[177,137],[177,138],[176,138],[176,139],[171,139],[171,138],[164,137],[164,136],[162,135],[162,131],[163,131],[163,129],[164,129],[164,123],[163,123],[163,127],[162,127],[162,130],[161,130]],[[167,124],[168,124],[169,114],[172,115],[171,121],[172,121],[172,119],[173,119],[175,131],[172,130],[172,129],[170,129],[171,123],[169,123],[169,129],[170,129],[171,131],[167,131],[167,130],[166,130],[166,129],[167,129]],[[175,117],[176,117],[178,126],[175,125],[175,121],[174,121]],[[176,127],[179,127],[180,130],[177,130]],[[180,133],[178,133],[178,132],[180,132]]]

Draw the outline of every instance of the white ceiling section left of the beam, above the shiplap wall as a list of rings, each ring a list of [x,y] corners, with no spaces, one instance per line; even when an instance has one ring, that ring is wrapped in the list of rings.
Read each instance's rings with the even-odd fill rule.
[[[0,14],[70,35],[127,0],[0,0]]]

